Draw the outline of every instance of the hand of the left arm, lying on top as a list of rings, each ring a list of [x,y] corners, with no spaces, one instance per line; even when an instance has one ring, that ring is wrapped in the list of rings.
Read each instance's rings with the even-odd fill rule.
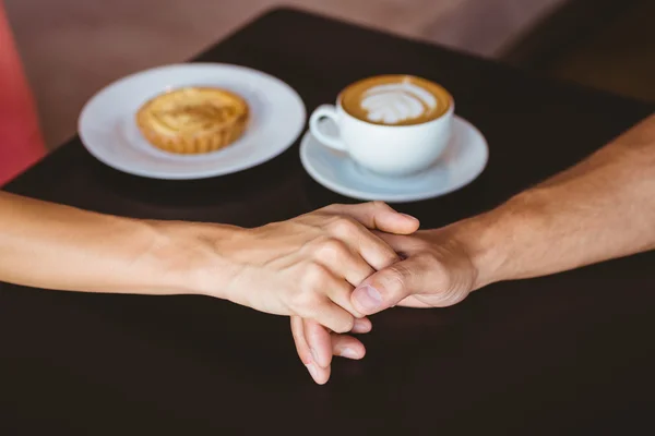
[[[218,238],[221,258],[214,277],[204,272],[203,289],[277,315],[312,319],[335,332],[350,331],[364,315],[355,310],[355,286],[398,261],[369,229],[412,233],[415,218],[383,203],[332,205],[260,228],[236,229]],[[215,276],[225,271],[216,289]]]

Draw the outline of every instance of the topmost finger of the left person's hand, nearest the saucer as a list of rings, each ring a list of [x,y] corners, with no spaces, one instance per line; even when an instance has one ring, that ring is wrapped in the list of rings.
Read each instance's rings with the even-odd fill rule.
[[[389,233],[410,234],[418,230],[418,219],[395,211],[382,202],[361,203],[356,205],[335,204],[323,208],[331,214],[347,215],[369,229]]]

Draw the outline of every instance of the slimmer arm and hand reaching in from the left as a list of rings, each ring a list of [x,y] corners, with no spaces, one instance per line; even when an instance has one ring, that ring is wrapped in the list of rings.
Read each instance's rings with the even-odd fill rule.
[[[370,323],[352,303],[354,287],[397,261],[369,229],[417,228],[415,218],[383,203],[333,205],[249,230],[122,218],[0,192],[0,280],[83,292],[201,293],[301,316],[320,329],[365,331]],[[344,341],[335,342],[338,353],[361,353],[355,339]]]

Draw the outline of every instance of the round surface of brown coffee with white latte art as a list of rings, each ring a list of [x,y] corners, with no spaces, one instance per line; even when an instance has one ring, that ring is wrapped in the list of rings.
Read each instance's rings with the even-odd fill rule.
[[[452,97],[433,82],[412,75],[380,75],[355,82],[340,96],[350,116],[373,124],[412,125],[434,120]]]

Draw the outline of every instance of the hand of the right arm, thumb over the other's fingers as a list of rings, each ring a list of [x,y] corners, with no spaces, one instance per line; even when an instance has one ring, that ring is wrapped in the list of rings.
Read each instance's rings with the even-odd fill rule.
[[[377,234],[404,259],[374,272],[352,295],[358,313],[371,315],[388,307],[444,307],[456,304],[477,286],[477,271],[469,254],[444,230],[413,235]],[[358,319],[352,332],[371,330],[367,318]],[[330,378],[332,356],[361,359],[364,344],[349,335],[329,331],[313,320],[293,318],[291,330],[298,355],[315,364],[308,370],[314,382]]]

